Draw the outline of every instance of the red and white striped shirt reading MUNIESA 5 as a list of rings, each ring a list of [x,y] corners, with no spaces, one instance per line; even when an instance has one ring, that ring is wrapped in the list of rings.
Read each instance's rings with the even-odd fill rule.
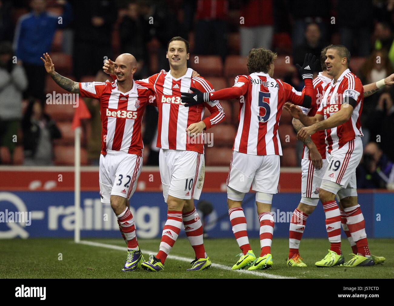
[[[307,90],[313,91],[312,79],[305,79],[305,83],[308,83]],[[271,78],[268,73],[254,72],[237,76],[233,87],[216,91],[210,98],[234,98],[231,95],[236,94],[235,88],[241,89],[238,91],[241,94],[238,95],[240,124],[232,149],[251,155],[282,155],[278,126],[283,105],[287,101],[303,105],[304,94],[288,83]]]

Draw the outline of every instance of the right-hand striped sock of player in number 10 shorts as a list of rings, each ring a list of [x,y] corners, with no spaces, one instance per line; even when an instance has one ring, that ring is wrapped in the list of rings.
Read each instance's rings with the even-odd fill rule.
[[[203,241],[203,223],[201,223],[196,208],[188,213],[183,213],[182,220],[186,236],[188,236],[189,242],[194,249],[196,258],[206,258]]]

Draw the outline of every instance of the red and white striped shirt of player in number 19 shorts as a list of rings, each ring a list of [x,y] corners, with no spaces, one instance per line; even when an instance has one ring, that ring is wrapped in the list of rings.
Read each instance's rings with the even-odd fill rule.
[[[342,148],[348,141],[363,136],[360,116],[362,101],[364,100],[364,88],[361,80],[351,73],[349,69],[346,69],[341,74],[335,84],[334,80],[332,80],[326,85],[322,103],[316,113],[323,115],[324,119],[329,118],[330,115],[339,111],[342,102],[347,97],[356,100],[356,105],[348,121],[335,128],[326,130],[327,152],[329,154]]]

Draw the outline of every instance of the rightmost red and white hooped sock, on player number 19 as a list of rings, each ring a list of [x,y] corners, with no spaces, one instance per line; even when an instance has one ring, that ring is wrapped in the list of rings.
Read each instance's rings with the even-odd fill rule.
[[[357,246],[357,253],[365,257],[371,257],[365,232],[365,220],[360,205],[344,208],[344,211],[347,220],[346,224],[348,224],[351,237]]]

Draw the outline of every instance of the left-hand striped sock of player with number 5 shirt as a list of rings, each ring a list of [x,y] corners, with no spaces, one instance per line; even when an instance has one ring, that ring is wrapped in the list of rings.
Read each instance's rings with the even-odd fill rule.
[[[243,255],[245,255],[249,250],[251,250],[251,247],[249,244],[249,238],[247,237],[247,224],[242,207],[230,208],[229,217],[232,232],[234,233],[235,239],[237,240],[238,246],[242,250]]]

